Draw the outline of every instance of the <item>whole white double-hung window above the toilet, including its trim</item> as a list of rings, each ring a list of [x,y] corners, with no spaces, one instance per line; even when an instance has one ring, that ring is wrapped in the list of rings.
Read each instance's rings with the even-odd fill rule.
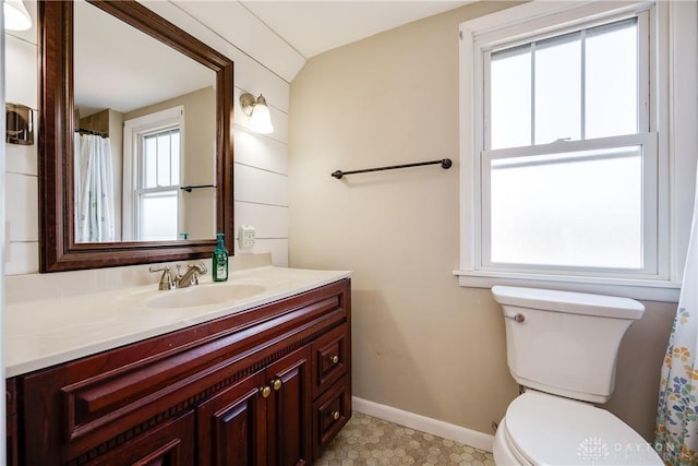
[[[521,8],[461,24],[461,285],[671,282],[659,4]]]

